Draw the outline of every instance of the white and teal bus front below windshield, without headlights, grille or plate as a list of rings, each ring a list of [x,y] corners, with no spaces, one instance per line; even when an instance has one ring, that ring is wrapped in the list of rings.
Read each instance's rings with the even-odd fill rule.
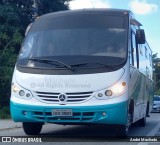
[[[96,123],[96,124],[126,124],[127,114],[128,114],[128,77],[129,68],[128,63],[124,68],[110,72],[110,73],[100,73],[100,74],[88,74],[88,75],[74,75],[74,76],[52,76],[52,75],[36,75],[36,74],[26,74],[21,73],[18,70],[14,71],[14,77],[12,80],[12,85],[18,85],[21,89],[29,90],[32,94],[31,98],[23,99],[17,94],[11,96],[11,116],[16,122],[49,122],[49,123],[59,123],[59,124],[85,124],[85,123]],[[114,77],[113,77],[114,76]],[[66,79],[67,78],[67,79]],[[90,88],[55,88],[44,87],[42,84],[43,80],[56,79],[60,80],[60,86],[65,86],[66,80],[76,80],[75,82],[83,83],[85,80],[88,81]],[[101,80],[101,81],[100,81]],[[36,82],[34,87],[32,83]],[[95,97],[98,92],[112,88],[116,84],[122,85],[126,82],[126,86],[123,94],[118,96],[106,97],[105,99]],[[98,87],[97,87],[98,83]],[[19,85],[23,84],[23,85]],[[35,87],[36,86],[36,87]],[[74,85],[73,85],[74,86]],[[106,86],[106,87],[105,87]],[[13,87],[13,86],[12,86]],[[47,90],[48,89],[48,90]],[[58,93],[75,93],[78,92],[89,92],[92,91],[91,97],[84,102],[74,102],[74,103],[46,103],[37,98],[36,92],[58,92]],[[85,91],[84,91],[85,90]],[[56,118],[52,116],[52,111],[54,109],[71,109],[73,113],[79,113],[78,116]],[[37,114],[38,115],[37,115]],[[49,114],[49,116],[45,114]],[[83,115],[90,113],[91,116]],[[103,116],[103,113],[106,114]],[[27,115],[26,115],[27,114]],[[94,114],[94,115],[93,115]],[[120,115],[121,114],[121,115]],[[36,117],[37,116],[37,117]],[[83,117],[84,116],[84,117]],[[50,118],[50,119],[49,119]],[[75,118],[75,119],[74,119]],[[78,119],[77,119],[78,118]],[[88,119],[87,119],[88,118]]]

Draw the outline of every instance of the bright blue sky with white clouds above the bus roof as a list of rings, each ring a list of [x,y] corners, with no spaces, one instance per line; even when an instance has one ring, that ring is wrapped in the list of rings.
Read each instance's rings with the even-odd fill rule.
[[[131,10],[143,25],[153,54],[160,57],[160,0],[72,0],[70,9],[118,8]]]

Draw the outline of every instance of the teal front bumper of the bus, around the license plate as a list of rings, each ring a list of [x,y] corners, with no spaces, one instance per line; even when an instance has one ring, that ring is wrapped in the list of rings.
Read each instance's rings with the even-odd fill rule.
[[[10,102],[11,117],[15,122],[44,122],[57,124],[126,124],[127,101],[102,106],[31,106]],[[56,117],[54,109],[71,109],[72,116]]]

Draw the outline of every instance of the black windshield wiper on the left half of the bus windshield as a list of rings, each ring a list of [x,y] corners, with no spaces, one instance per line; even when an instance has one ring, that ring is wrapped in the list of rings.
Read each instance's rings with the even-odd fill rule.
[[[74,71],[74,69],[70,65],[65,64],[64,62],[59,61],[59,60],[50,60],[50,59],[41,59],[41,58],[29,58],[29,60],[37,61],[37,62],[41,62],[41,63],[47,63],[47,64],[51,64],[51,65],[56,65],[56,66],[61,65],[61,66],[64,66],[64,67]],[[59,63],[60,65],[54,64],[54,62]]]

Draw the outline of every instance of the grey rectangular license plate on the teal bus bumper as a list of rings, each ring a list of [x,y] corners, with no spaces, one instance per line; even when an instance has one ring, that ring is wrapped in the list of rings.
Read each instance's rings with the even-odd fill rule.
[[[55,109],[52,111],[53,116],[72,116],[73,112],[71,109]]]

